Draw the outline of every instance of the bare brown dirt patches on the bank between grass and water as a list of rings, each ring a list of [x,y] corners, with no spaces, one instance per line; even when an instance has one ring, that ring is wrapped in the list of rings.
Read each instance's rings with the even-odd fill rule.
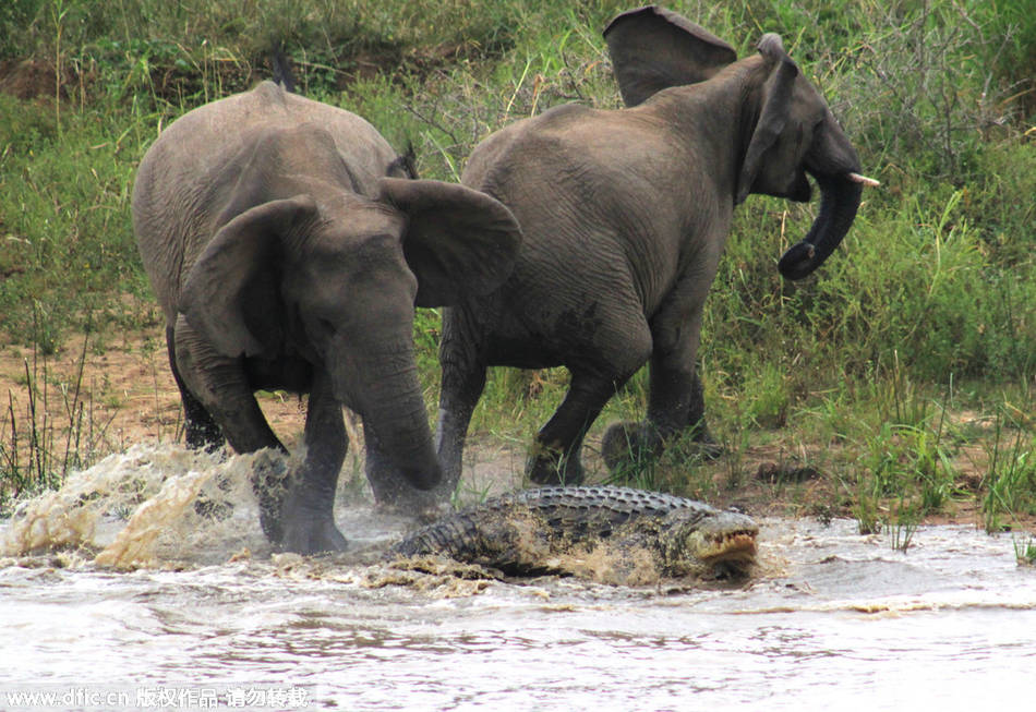
[[[35,386],[34,397],[29,383]],[[85,343],[83,336],[72,336],[58,354],[47,358],[26,347],[0,342],[0,468],[5,471],[14,456],[24,467],[34,423],[56,458],[63,457],[76,438],[80,451],[91,456],[88,461],[136,443],[182,442],[180,396],[158,327],[94,335]],[[291,447],[301,437],[304,399],[263,393],[258,400],[274,430]],[[358,431],[362,425],[350,425],[350,452],[357,454],[362,450]],[[603,473],[598,443],[591,436],[587,445],[588,471]],[[521,486],[525,447],[525,443],[473,434],[465,457],[461,499]],[[808,455],[812,457],[807,461],[817,461],[816,454]],[[981,447],[962,450],[955,467],[965,487],[978,486],[985,459]],[[716,483],[709,495],[716,506],[736,505],[757,516],[852,516],[852,493],[829,473],[802,467],[800,460],[782,444],[771,442],[749,446],[737,454],[736,462],[724,456],[700,467],[703,475]],[[354,478],[362,472],[357,460],[347,460],[345,467]],[[734,467],[742,475],[737,486],[730,487],[725,483]],[[954,500],[945,509],[928,517],[926,523],[981,526],[977,497]],[[1013,523],[1028,531],[1036,528],[1036,519]]]

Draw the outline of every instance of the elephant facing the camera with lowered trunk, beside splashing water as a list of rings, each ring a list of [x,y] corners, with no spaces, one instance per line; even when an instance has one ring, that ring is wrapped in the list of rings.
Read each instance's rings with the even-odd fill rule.
[[[507,207],[407,162],[364,119],[264,82],[176,120],[137,170],[133,226],[188,445],[287,451],[254,391],[309,394],[301,462],[280,492],[255,483],[286,551],[347,546],[342,406],[363,420],[372,484],[439,482],[414,309],[487,293],[517,257]]]

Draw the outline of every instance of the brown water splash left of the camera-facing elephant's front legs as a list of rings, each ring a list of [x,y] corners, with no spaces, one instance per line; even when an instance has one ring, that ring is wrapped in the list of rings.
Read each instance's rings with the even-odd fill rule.
[[[99,566],[135,568],[227,560],[267,547],[252,473],[279,454],[243,456],[135,445],[21,503],[5,556],[75,551]]]

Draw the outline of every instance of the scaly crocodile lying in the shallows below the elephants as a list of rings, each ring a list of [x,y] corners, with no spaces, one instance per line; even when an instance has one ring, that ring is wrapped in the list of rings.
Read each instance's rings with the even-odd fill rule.
[[[515,577],[559,574],[637,583],[744,575],[755,559],[758,532],[746,515],[685,497],[619,486],[553,486],[505,494],[444,517],[390,554],[447,556]]]

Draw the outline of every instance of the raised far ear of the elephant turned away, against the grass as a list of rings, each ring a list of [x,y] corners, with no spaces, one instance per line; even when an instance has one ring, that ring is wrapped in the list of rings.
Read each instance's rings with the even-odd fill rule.
[[[656,5],[622,13],[604,29],[604,39],[628,107],[671,86],[702,82],[737,59],[719,37]]]

